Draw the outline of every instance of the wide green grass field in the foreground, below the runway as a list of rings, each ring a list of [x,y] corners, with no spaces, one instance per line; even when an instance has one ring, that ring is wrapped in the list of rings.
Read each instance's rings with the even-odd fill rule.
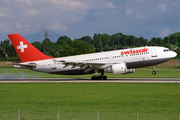
[[[176,83],[1,83],[0,118],[17,117],[18,106],[24,120],[56,119],[57,107],[61,119],[96,119],[97,108],[101,119],[135,119],[137,109],[141,119],[162,114],[178,119],[179,88]]]

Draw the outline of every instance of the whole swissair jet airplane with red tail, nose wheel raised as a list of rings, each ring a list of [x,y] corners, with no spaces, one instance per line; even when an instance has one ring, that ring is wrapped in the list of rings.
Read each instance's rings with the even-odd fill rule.
[[[38,72],[64,75],[91,74],[92,80],[106,80],[104,72],[113,74],[134,73],[135,68],[153,66],[174,58],[177,53],[165,47],[145,46],[91,53],[69,57],[53,58],[41,53],[19,34],[8,35],[22,63],[13,63],[14,67]],[[98,76],[98,72],[101,73]]]

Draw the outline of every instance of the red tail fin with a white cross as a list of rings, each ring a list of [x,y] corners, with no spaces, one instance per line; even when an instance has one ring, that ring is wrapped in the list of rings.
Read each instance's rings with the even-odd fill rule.
[[[22,62],[45,60],[52,58],[40,52],[37,48],[35,48],[31,43],[29,43],[19,34],[10,34],[8,35],[8,37],[11,40]]]

